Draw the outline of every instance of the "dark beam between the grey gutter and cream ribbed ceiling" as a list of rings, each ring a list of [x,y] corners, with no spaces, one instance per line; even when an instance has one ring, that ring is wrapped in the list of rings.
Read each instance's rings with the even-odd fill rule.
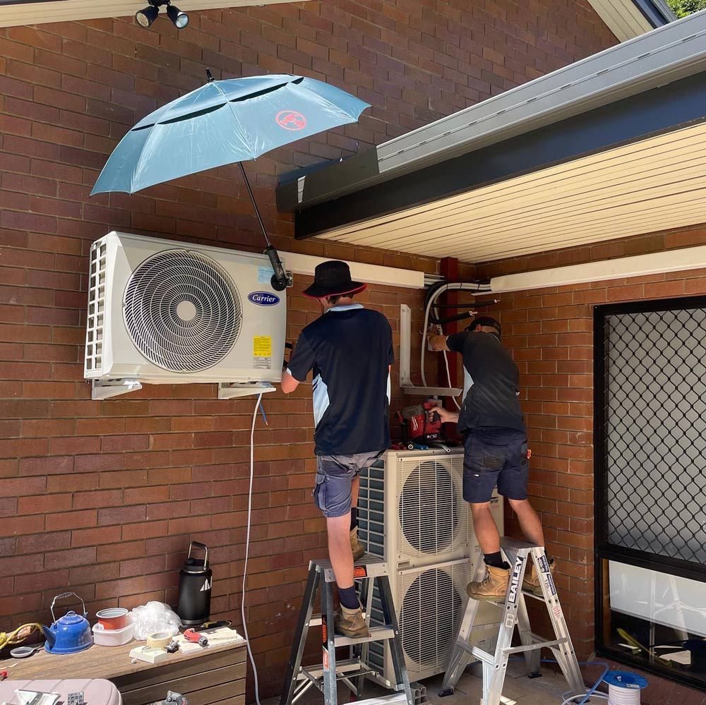
[[[706,71],[297,211],[306,239],[706,121]]]

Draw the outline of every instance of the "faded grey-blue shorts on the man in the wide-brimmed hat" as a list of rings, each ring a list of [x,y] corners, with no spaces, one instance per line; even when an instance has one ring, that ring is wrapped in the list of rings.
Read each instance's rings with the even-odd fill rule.
[[[314,504],[324,517],[345,517],[351,510],[353,478],[369,468],[381,452],[355,453],[353,455],[317,455]]]

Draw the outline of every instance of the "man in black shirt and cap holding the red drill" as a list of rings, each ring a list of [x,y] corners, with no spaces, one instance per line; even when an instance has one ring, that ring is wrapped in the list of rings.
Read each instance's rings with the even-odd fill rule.
[[[479,316],[468,329],[449,335],[429,335],[435,350],[462,354],[466,387],[460,414],[437,409],[444,422],[457,422],[465,438],[463,498],[470,502],[473,528],[484,553],[486,578],[467,586],[477,600],[505,598],[510,566],[500,552],[498,527],[490,512],[495,486],[508,498],[527,541],[544,546],[542,524],[527,500],[527,429],[520,409],[520,374],[500,342],[501,326]],[[524,589],[542,594],[534,570],[525,576]]]

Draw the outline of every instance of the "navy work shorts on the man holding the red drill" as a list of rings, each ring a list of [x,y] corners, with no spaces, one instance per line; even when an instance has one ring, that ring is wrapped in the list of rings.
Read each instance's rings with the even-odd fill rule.
[[[465,438],[463,498],[490,502],[493,489],[508,500],[527,499],[527,435],[513,428],[474,428]]]

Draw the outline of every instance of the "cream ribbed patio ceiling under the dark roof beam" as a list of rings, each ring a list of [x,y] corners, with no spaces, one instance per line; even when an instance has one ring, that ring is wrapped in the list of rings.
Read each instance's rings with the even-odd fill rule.
[[[706,222],[706,123],[321,238],[486,262]]]

